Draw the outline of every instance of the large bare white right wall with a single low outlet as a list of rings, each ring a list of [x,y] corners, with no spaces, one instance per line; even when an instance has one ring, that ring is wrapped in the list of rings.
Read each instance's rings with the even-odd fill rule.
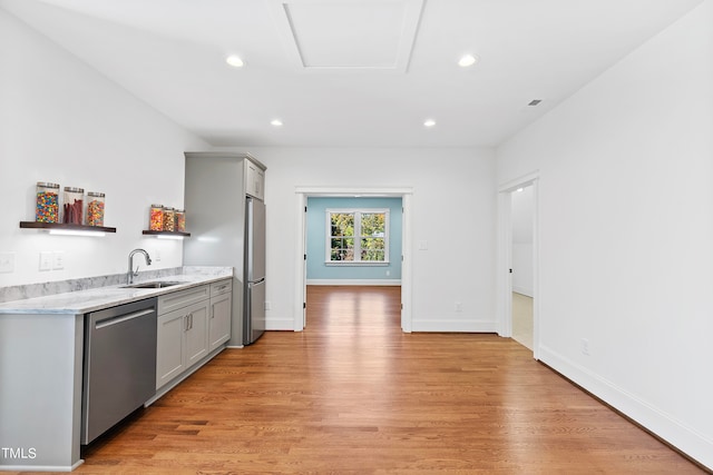
[[[541,359],[711,468],[712,24],[707,0],[497,150],[500,184],[539,169]]]

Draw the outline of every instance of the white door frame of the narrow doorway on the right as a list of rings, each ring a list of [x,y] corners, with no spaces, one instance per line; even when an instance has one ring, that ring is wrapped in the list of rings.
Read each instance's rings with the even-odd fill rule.
[[[512,336],[512,228],[511,194],[533,187],[533,357],[539,359],[539,171],[507,181],[498,187],[498,335]]]

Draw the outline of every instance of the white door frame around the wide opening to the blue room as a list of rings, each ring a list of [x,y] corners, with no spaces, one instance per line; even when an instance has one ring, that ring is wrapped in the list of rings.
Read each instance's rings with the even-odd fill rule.
[[[306,304],[306,212],[305,207],[310,197],[354,197],[360,198],[401,198],[403,207],[401,231],[401,330],[411,333],[411,208],[413,188],[358,188],[358,187],[296,187],[296,248],[295,248],[295,289],[294,289],[294,330],[302,331],[305,326],[305,304]],[[397,256],[392,256],[397,258]]]

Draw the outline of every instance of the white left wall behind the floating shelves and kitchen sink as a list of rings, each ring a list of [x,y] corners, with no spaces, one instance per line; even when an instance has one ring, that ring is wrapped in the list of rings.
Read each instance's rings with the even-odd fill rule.
[[[141,230],[152,202],[183,205],[183,151],[207,146],[3,10],[0,71],[0,253],[14,253],[0,286],[125,273],[136,247],[160,257],[152,269],[180,266],[180,243]],[[106,192],[117,232],[20,229],[35,220],[37,181]],[[42,250],[65,251],[65,269],[39,271]]]

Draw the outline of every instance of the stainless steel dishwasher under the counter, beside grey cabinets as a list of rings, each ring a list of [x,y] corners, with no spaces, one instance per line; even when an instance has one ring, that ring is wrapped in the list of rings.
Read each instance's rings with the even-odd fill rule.
[[[156,298],[88,314],[81,444],[89,444],[156,393]]]

